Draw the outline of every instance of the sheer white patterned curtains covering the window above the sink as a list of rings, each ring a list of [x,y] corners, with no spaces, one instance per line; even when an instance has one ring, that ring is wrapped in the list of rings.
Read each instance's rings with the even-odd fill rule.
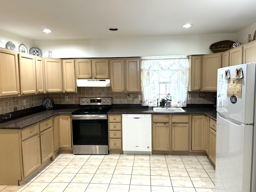
[[[188,58],[143,59],[141,64],[142,105],[157,106],[159,80],[168,78],[172,106],[186,107],[188,87]],[[161,98],[160,98],[161,99]]]

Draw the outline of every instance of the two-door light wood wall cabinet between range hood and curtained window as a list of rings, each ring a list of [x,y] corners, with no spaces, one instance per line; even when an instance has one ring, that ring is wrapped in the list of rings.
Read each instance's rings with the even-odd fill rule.
[[[140,59],[110,60],[111,92],[140,92]]]

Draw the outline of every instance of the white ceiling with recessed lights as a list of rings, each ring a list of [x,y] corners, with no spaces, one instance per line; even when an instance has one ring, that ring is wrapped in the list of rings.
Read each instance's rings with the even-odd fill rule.
[[[256,22],[255,6],[255,0],[1,0],[0,29],[32,40],[236,33]],[[194,25],[182,28],[186,23]]]

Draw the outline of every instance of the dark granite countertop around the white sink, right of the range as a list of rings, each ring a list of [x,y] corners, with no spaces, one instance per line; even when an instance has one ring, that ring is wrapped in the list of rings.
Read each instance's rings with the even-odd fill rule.
[[[216,120],[216,110],[209,108],[186,108],[182,109],[185,112],[153,112],[148,108],[113,108],[108,111],[108,114],[204,114]]]

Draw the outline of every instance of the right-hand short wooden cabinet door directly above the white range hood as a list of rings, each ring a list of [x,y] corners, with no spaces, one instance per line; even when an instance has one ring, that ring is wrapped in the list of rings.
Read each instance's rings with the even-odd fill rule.
[[[92,74],[94,79],[108,79],[108,59],[92,60]]]

